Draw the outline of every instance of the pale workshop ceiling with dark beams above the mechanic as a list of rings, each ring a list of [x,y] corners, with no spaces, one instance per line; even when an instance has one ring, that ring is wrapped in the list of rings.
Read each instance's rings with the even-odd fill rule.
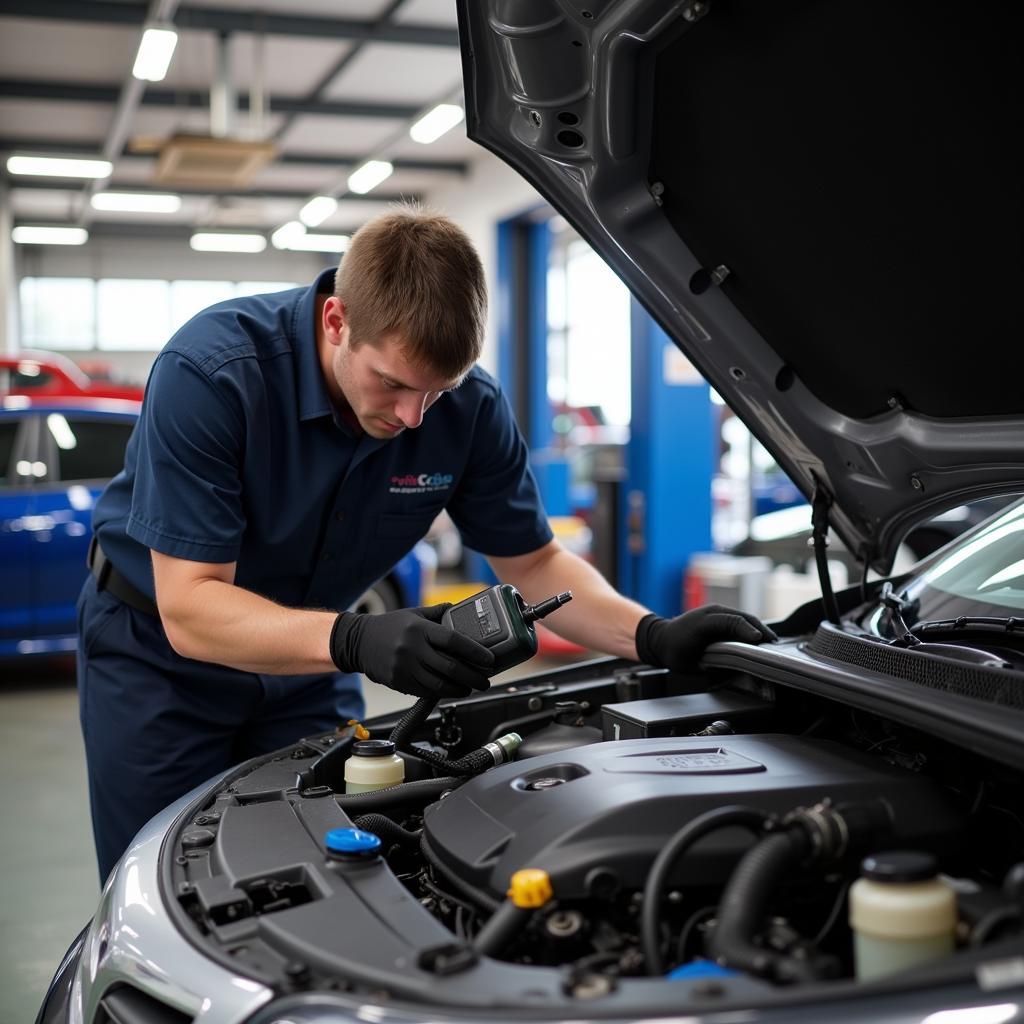
[[[467,173],[482,151],[458,125],[435,142],[409,136],[434,104],[462,104],[454,0],[0,0],[0,166],[13,153],[106,156],[110,179],[14,176],[15,222],[119,224],[153,233],[212,226],[273,231],[313,196],[339,203],[317,231],[347,232],[400,197],[422,197]],[[173,23],[167,76],[131,76],[143,26]],[[155,182],[173,135],[210,135],[211,92],[227,69],[228,136],[274,152],[244,185]],[[133,84],[134,83],[134,84]],[[262,99],[263,114],[257,111]],[[393,174],[367,195],[348,175],[367,160]],[[174,213],[97,211],[96,191],[175,191]]]

